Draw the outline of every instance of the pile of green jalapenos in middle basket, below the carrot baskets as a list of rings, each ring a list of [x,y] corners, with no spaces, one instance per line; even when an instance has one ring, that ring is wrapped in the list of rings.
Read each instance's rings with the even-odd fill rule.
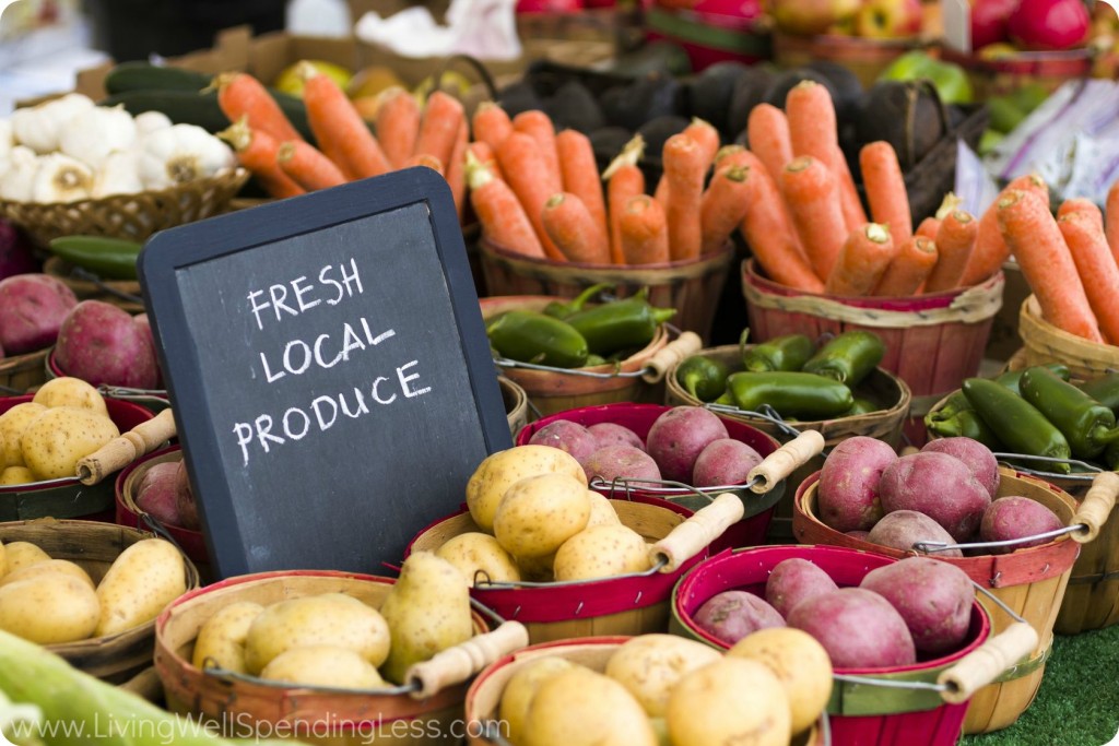
[[[789,421],[850,417],[881,409],[854,389],[882,361],[885,346],[868,331],[848,331],[819,349],[805,334],[786,334],[745,346],[742,370],[694,355],[676,368],[677,383],[700,402],[756,412],[770,405]]]

